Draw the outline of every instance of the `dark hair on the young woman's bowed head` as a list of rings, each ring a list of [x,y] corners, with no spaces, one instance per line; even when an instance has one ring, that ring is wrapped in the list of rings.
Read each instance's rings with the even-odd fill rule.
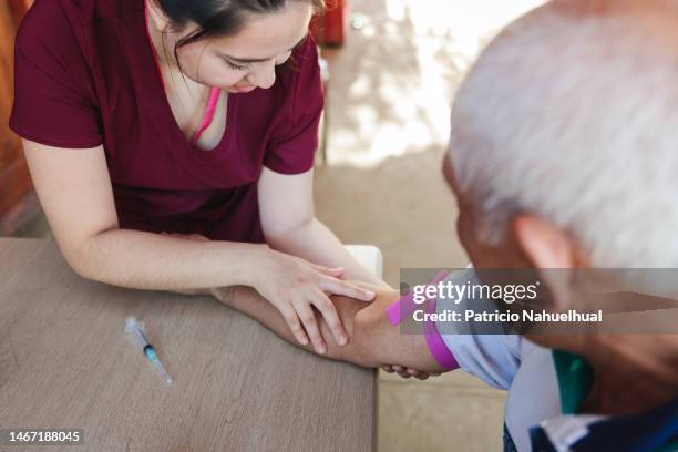
[[[178,62],[177,50],[184,45],[209,37],[237,34],[246,23],[246,14],[277,12],[292,1],[306,1],[317,10],[325,8],[325,0],[157,0],[170,20],[178,29],[189,22],[197,23],[193,33],[182,38],[174,47],[174,58]]]

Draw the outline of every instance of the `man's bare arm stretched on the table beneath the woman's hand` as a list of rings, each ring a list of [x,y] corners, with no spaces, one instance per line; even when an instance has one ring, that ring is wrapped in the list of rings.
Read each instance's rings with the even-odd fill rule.
[[[259,321],[280,338],[299,346],[278,310],[247,287],[230,287],[213,290],[223,304]],[[400,364],[424,372],[438,373],[443,369],[429,352],[423,335],[403,335],[400,327],[392,326],[384,310],[397,301],[397,291],[377,291],[370,304],[345,297],[331,297],[349,336],[349,343],[339,347],[328,341],[326,356],[330,359],[352,362],[358,366],[377,368],[384,364]],[[322,335],[330,330],[316,312]],[[314,351],[312,347],[302,347]]]

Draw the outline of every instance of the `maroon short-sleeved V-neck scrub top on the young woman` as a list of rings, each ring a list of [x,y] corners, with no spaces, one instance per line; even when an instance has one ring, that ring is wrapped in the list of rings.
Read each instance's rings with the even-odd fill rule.
[[[16,44],[11,129],[50,146],[103,144],[122,228],[264,242],[257,181],[264,166],[314,164],[322,88],[309,37],[268,90],[229,94],[212,151],[178,127],[146,33],[143,0],[38,0]]]

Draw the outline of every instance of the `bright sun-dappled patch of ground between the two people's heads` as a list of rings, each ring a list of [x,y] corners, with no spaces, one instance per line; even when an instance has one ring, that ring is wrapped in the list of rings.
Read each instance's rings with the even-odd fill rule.
[[[541,1],[353,0],[331,68],[331,162],[374,165],[444,145],[450,104],[479,50]]]

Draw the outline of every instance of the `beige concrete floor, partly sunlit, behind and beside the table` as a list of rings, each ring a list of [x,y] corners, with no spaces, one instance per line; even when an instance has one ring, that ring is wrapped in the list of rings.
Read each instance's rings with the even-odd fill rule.
[[[330,63],[329,158],[317,215],[348,244],[400,268],[460,267],[456,206],[440,172],[454,92],[477,51],[538,0],[352,0],[347,44]],[[49,235],[43,217],[18,236]],[[428,381],[380,373],[379,450],[501,450],[504,394],[461,372]]]

